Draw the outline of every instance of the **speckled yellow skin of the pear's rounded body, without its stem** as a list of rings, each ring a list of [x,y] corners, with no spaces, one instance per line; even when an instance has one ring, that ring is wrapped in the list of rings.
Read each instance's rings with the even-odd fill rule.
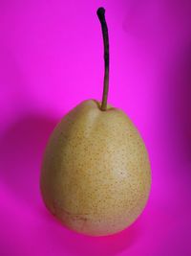
[[[84,101],[54,128],[40,188],[48,209],[69,229],[117,233],[142,212],[151,171],[137,128],[121,110]]]

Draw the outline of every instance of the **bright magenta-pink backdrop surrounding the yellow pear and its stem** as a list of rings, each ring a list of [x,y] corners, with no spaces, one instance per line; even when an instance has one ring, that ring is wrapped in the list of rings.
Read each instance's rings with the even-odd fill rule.
[[[109,102],[134,121],[152,165],[149,202],[110,237],[74,234],[39,192],[42,153],[58,120],[100,100],[103,46],[111,48]],[[0,2],[0,255],[191,255],[190,1]]]

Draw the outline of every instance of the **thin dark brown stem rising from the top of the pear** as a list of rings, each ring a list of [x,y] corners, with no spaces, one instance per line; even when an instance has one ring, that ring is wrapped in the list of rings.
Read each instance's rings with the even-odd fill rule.
[[[107,109],[107,98],[109,90],[109,36],[108,28],[105,20],[105,9],[100,7],[97,9],[96,14],[101,23],[103,43],[104,43],[104,62],[105,62],[105,74],[104,74],[104,85],[103,85],[103,95],[102,103],[100,109],[105,111]]]

